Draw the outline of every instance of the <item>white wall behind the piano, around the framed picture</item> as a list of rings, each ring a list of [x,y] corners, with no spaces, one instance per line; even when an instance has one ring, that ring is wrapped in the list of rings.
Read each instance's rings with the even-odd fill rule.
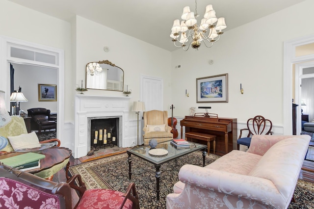
[[[187,115],[191,106],[211,106],[209,112],[220,117],[234,117],[244,123],[252,116],[263,115],[275,126],[283,126],[283,43],[314,34],[312,8],[314,1],[306,0],[227,30],[210,49],[201,46],[199,51],[172,52],[172,97],[177,104],[174,114]],[[228,26],[228,20],[226,23]],[[214,60],[212,65],[210,59]],[[196,78],[224,73],[229,74],[229,103],[197,104]],[[185,89],[189,97],[185,97]]]

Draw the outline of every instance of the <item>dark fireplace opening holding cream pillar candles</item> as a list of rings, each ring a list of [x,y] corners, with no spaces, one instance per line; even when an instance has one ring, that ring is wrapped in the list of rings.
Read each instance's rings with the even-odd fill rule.
[[[95,150],[119,147],[119,117],[92,119],[90,123],[90,145]]]

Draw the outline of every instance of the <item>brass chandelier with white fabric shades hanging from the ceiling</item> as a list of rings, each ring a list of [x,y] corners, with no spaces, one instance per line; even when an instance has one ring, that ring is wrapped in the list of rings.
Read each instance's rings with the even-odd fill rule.
[[[195,13],[190,11],[189,6],[183,8],[183,14],[181,16],[183,21],[181,21],[180,24],[179,19],[175,20],[171,28],[170,37],[176,47],[183,47],[183,50],[187,51],[191,46],[193,49],[198,50],[201,46],[201,42],[203,42],[207,48],[210,48],[213,43],[219,40],[220,35],[224,33],[221,30],[227,27],[225,18],[216,18],[216,12],[213,10],[211,4],[206,6],[204,18],[201,20],[200,25],[197,25],[196,18],[198,17],[197,0],[195,0]],[[217,25],[215,25],[216,22]],[[189,30],[188,33],[186,32],[187,30]],[[178,43],[177,41],[179,45],[176,44]],[[187,48],[186,42],[189,42]]]

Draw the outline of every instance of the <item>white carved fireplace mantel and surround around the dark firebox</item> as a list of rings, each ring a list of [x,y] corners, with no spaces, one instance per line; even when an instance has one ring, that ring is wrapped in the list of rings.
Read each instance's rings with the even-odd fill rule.
[[[90,151],[89,118],[120,117],[122,134],[120,147],[131,145],[129,137],[129,102],[130,97],[112,97],[78,94],[75,98],[75,151],[74,157],[86,156]]]

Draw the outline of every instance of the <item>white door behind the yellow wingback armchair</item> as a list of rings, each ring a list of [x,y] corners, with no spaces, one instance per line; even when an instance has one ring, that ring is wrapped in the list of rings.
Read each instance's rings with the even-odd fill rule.
[[[162,108],[162,79],[141,76],[141,101],[145,103],[146,111]]]

